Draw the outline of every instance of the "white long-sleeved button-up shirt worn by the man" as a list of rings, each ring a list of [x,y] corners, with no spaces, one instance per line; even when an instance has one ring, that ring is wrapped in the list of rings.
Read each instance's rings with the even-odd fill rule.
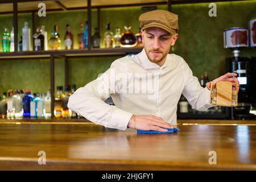
[[[89,121],[125,130],[133,114],[152,114],[176,125],[177,104],[181,93],[196,110],[206,110],[210,91],[202,88],[188,64],[174,53],[160,67],[148,60],[143,51],[134,57],[115,60],[110,68],[76,90],[68,108]],[[115,104],[105,100],[112,97]]]

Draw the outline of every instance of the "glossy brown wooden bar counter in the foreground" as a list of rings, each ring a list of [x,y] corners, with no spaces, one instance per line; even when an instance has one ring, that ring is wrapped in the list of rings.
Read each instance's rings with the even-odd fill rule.
[[[51,122],[0,119],[0,169],[256,169],[256,121],[211,125],[183,120],[179,133],[142,135],[91,122]],[[46,164],[38,163],[39,151],[46,152]],[[210,151],[216,152],[217,164],[209,164]]]

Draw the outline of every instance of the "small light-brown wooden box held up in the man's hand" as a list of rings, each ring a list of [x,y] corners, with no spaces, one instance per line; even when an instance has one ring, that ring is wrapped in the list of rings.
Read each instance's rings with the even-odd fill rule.
[[[216,88],[210,84],[210,104],[216,106],[237,106],[237,88],[230,81],[219,81]]]

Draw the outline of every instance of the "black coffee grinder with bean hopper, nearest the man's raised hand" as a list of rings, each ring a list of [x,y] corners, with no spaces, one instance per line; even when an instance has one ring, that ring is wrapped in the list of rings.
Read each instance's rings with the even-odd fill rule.
[[[226,70],[237,73],[240,82],[238,92],[238,104],[230,108],[232,119],[253,119],[255,115],[250,114],[251,109],[251,60],[241,57],[243,48],[249,47],[248,30],[243,27],[228,28],[224,31],[224,48],[230,48],[233,57],[226,58]]]

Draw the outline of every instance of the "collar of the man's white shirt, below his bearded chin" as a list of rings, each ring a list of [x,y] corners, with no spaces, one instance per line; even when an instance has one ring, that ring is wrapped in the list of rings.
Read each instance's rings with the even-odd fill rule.
[[[158,64],[152,63],[150,60],[148,60],[147,55],[146,55],[146,51],[145,51],[144,48],[138,54],[138,59],[141,61],[142,67],[145,68],[145,69],[164,68],[164,67],[168,66],[168,63],[170,61],[170,60],[168,60],[168,55],[167,55],[166,61],[164,62],[162,67],[160,67]]]

